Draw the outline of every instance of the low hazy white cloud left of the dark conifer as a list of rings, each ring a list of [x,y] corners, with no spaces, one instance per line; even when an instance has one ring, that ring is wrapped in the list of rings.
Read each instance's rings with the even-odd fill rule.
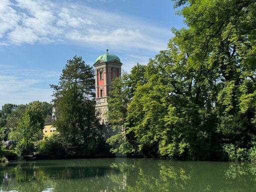
[[[49,87],[37,88],[37,85],[48,85],[58,75],[55,71],[15,69],[10,65],[0,65],[0,106],[33,100],[50,101],[52,90]]]

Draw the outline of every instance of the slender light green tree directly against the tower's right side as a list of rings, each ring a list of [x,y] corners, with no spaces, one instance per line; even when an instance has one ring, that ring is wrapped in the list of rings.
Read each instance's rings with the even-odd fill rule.
[[[111,82],[110,96],[107,98],[109,124],[113,131],[117,130],[117,134],[106,140],[107,143],[113,146],[111,148],[112,152],[131,152],[134,151],[133,148],[135,147],[132,146],[132,135],[126,132],[127,107],[132,97],[131,88],[134,88],[129,77],[130,75],[125,72],[120,77],[116,77]]]

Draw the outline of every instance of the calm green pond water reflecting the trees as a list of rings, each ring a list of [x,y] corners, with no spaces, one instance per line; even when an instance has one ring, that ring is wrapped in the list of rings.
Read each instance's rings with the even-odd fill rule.
[[[256,191],[256,165],[102,158],[0,164],[0,191]]]

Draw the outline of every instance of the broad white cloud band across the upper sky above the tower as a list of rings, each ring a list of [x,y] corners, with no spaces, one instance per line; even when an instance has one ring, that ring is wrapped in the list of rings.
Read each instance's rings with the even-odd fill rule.
[[[118,49],[158,51],[169,31],[137,18],[91,8],[86,3],[1,0],[0,46],[21,43],[100,43]]]

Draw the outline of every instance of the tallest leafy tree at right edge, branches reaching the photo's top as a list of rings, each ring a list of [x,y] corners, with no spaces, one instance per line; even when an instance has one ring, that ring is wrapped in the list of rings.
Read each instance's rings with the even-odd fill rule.
[[[176,1],[184,2],[180,13],[189,28],[175,34],[192,42],[190,55],[202,52],[203,62],[215,71],[218,89],[212,104],[222,144],[248,150],[256,138],[255,0]]]

